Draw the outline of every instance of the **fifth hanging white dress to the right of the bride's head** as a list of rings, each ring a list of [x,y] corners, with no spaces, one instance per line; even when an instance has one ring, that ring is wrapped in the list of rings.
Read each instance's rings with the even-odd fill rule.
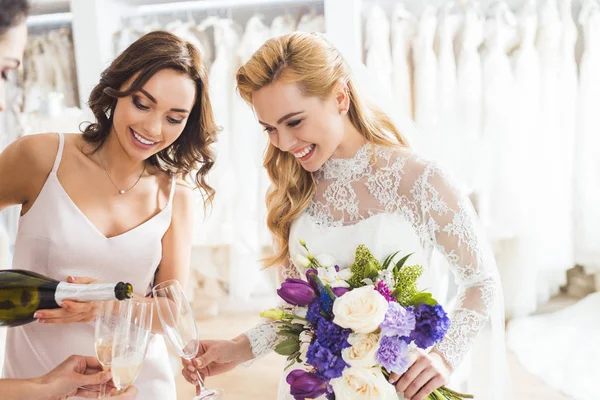
[[[480,160],[482,152],[482,71],[479,45],[483,41],[483,18],[475,4],[469,3],[465,10],[464,25],[460,35],[457,60],[457,119],[456,142],[462,146],[458,154],[461,160],[457,175],[465,183],[469,192],[481,192],[482,176]],[[479,206],[479,205],[478,205]],[[484,225],[486,215],[478,207],[478,213]]]

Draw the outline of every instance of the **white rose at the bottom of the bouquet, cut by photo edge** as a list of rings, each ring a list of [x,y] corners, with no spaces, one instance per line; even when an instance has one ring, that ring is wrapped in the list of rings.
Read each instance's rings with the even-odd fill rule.
[[[379,368],[346,368],[339,378],[330,381],[336,399],[398,400],[396,389]]]

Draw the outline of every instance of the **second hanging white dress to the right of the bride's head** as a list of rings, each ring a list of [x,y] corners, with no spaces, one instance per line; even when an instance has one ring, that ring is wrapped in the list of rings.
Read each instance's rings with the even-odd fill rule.
[[[392,17],[392,94],[394,112],[412,119],[412,41],[416,18],[403,3],[396,5]]]

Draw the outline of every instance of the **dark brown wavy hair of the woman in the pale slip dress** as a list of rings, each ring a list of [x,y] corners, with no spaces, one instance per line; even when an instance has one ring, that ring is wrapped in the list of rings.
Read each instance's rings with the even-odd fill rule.
[[[88,104],[96,122],[83,131],[86,142],[98,151],[106,141],[113,125],[117,100],[140,90],[158,71],[172,69],[185,73],[196,83],[196,100],[187,123],[177,140],[166,149],[152,155],[146,162],[165,173],[183,177],[195,174],[195,184],[206,204],[210,204],[215,191],[206,182],[206,175],[214,165],[212,144],[217,139],[210,99],[208,97],[208,72],[198,49],[191,43],[163,31],[142,36],[121,53],[102,72]],[[137,76],[136,76],[137,74]],[[136,76],[131,86],[120,91],[122,85]]]

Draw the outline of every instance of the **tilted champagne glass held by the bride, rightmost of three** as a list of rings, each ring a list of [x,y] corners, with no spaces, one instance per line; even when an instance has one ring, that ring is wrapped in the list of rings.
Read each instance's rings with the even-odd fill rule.
[[[156,285],[152,294],[165,336],[181,358],[191,360],[198,353],[200,340],[196,319],[181,285],[177,280],[165,281]],[[221,389],[206,389],[200,373],[196,374],[200,394],[193,400],[223,399]]]

